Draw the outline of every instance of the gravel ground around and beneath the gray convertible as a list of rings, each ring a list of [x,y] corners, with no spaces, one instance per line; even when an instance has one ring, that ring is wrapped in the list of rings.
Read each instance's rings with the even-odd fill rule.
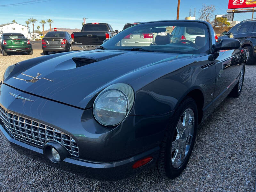
[[[41,56],[3,57],[0,76],[7,66]],[[192,156],[185,171],[165,180],[150,171],[117,182],[80,178],[30,160],[0,134],[1,191],[231,191],[254,192],[256,178],[256,65],[246,66],[243,92],[227,98],[200,125]]]

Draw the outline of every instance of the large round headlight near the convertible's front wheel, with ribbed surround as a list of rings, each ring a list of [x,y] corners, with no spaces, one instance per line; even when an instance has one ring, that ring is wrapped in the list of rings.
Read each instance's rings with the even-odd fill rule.
[[[102,125],[120,124],[128,116],[134,101],[130,85],[118,83],[104,89],[93,103],[93,115]]]

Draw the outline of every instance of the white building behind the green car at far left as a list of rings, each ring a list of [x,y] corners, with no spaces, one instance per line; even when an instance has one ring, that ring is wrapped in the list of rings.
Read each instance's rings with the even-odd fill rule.
[[[29,27],[18,23],[0,24],[0,37],[3,33],[22,33],[26,38],[30,39]]]

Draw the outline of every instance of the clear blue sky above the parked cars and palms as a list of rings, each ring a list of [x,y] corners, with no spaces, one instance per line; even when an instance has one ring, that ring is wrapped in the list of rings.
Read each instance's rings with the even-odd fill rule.
[[[109,23],[114,30],[121,30],[125,23],[176,19],[178,2],[178,0],[41,0],[45,2],[1,7],[1,5],[28,1],[0,0],[0,24],[11,22],[13,19],[20,24],[25,24],[25,20],[33,17],[38,20],[35,25],[39,25],[42,30],[39,21],[50,18],[54,21],[52,27],[73,29],[81,28],[83,17],[86,17],[87,23]],[[196,18],[198,18],[203,4],[215,5],[214,15],[226,14],[228,10],[228,0],[181,0],[180,19],[189,16],[190,6],[192,6],[192,13],[196,7]],[[241,21],[251,17],[252,13],[236,13],[234,20]],[[29,27],[32,28],[32,25]],[[45,24],[44,28],[49,29],[49,24]]]

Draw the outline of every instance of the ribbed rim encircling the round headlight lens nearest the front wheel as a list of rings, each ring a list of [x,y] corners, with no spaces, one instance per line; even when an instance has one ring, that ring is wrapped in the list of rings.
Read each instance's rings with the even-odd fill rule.
[[[127,110],[126,110],[126,115],[124,116],[122,121],[110,125],[110,124],[104,124],[103,122],[100,122],[100,120],[97,119],[97,114],[95,114],[94,109],[95,109],[96,103],[98,102],[100,97],[103,94],[105,94],[107,92],[111,92],[111,91],[118,91],[118,92],[121,92],[124,95],[124,97],[126,99],[126,102],[127,102],[127,108],[126,108]],[[107,127],[113,127],[113,126],[116,126],[116,125],[121,124],[122,122],[124,122],[124,120],[129,115],[129,113],[130,113],[130,111],[132,109],[133,103],[134,103],[134,91],[133,91],[133,89],[132,89],[132,87],[130,85],[124,84],[124,83],[113,84],[113,85],[108,86],[104,90],[102,90],[98,94],[98,96],[95,98],[95,100],[93,102],[93,108],[92,108],[93,116],[94,116],[95,120],[99,124],[102,124],[102,125],[107,126]],[[113,112],[113,111],[111,111],[111,112]]]

